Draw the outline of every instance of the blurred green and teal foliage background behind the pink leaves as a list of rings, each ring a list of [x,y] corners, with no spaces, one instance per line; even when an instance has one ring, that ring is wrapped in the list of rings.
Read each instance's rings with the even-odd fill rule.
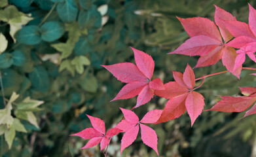
[[[7,99],[12,92],[19,94],[16,104],[28,96],[44,101],[41,110],[33,110],[36,120],[32,121],[39,128],[17,116],[18,105],[12,104],[11,115],[20,119],[27,132],[16,131],[9,149],[0,124],[0,154],[104,156],[99,146],[81,150],[87,141],[69,135],[91,127],[85,114],[101,118],[112,128],[122,119],[119,107],[131,109],[136,97],[110,103],[124,84],[100,65],[134,63],[132,46],[155,60],[153,78],[169,82],[172,71],[183,72],[187,63],[193,67],[198,60],[167,55],[189,37],[176,16],[213,20],[217,5],[247,22],[247,3],[256,7],[255,1],[244,0],[0,0],[0,32],[8,41],[0,54],[1,91]],[[255,67],[250,60],[244,65]],[[194,69],[194,73],[198,78],[224,70],[218,62]],[[229,73],[206,79],[197,90],[205,97],[204,109],[219,101],[219,96],[239,96],[238,86],[255,86],[256,79],[249,72],[242,71],[240,80]],[[0,109],[4,109],[3,97],[0,99]],[[155,96],[134,111],[141,118],[149,110],[164,109],[165,103],[166,99]],[[203,112],[191,128],[185,113],[151,125],[158,134],[159,154],[256,156],[256,116],[242,118],[243,114]],[[120,155],[121,138],[122,133],[113,137],[107,156],[157,156],[140,136]]]

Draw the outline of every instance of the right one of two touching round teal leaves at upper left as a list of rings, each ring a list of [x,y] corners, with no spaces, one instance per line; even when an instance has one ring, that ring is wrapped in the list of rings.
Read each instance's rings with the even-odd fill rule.
[[[56,41],[57,39],[62,37],[64,32],[65,32],[64,24],[60,22],[56,22],[56,21],[46,22],[41,26],[41,35],[42,35],[43,41],[48,41],[48,42]]]

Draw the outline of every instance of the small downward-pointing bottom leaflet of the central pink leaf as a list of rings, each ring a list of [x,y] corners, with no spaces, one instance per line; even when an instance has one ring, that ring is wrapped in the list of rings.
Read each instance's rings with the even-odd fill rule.
[[[149,88],[149,86],[145,86],[143,90],[141,90],[141,92],[139,93],[139,96],[137,96],[137,103],[135,108],[149,102],[153,96],[154,90]]]

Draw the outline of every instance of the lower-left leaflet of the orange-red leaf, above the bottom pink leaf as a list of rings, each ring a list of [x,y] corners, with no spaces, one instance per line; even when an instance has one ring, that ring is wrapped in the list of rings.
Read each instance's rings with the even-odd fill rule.
[[[162,115],[157,120],[156,124],[173,120],[181,116],[181,114],[185,113],[185,110],[186,110],[185,99],[187,98],[187,96],[188,94],[183,94],[181,96],[170,99],[166,103],[166,106],[164,107],[164,111],[162,111]]]

